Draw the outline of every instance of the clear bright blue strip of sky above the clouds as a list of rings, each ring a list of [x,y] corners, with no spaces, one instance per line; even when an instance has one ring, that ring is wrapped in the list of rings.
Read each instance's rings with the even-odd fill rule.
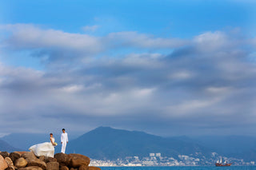
[[[191,38],[206,31],[241,27],[252,30],[254,2],[249,1],[7,1],[4,23],[33,23],[67,32],[100,25],[101,34],[135,30]],[[113,24],[113,25],[112,25]],[[250,29],[249,29],[250,30]]]

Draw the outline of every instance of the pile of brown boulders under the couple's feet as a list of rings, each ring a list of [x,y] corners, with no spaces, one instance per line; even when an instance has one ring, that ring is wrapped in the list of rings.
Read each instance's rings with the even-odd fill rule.
[[[56,153],[53,158],[33,152],[0,152],[0,170],[101,170],[89,164],[89,157],[75,153]]]

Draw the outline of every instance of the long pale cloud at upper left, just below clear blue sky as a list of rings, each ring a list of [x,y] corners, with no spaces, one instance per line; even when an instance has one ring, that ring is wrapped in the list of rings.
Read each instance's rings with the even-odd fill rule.
[[[6,39],[9,47],[14,49],[71,49],[86,53],[96,53],[102,50],[99,38],[87,34],[70,34],[61,30],[43,30],[38,26],[16,24],[2,28],[11,34]]]

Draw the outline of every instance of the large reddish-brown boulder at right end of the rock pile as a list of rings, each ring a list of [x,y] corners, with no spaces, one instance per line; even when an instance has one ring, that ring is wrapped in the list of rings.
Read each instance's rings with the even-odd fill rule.
[[[82,165],[88,166],[90,164],[90,158],[77,153],[70,153],[70,167],[79,168]]]

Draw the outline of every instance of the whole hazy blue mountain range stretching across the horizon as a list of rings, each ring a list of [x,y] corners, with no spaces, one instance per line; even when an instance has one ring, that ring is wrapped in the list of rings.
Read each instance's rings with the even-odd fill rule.
[[[0,138],[0,150],[27,150],[31,145],[47,141],[47,135],[10,134]],[[55,152],[60,152],[59,144]],[[211,152],[244,160],[255,160],[256,138],[253,136],[173,136],[162,137],[146,132],[127,131],[110,127],[95,128],[82,136],[70,140],[67,153],[75,152],[97,160],[114,160],[126,156],[149,156],[150,152],[161,152],[162,156],[192,155],[208,157]]]

